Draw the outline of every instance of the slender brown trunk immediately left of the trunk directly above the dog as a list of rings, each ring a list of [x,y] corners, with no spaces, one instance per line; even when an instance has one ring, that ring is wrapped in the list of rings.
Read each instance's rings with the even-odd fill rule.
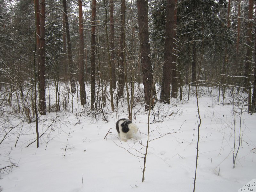
[[[111,74],[112,74],[112,87],[116,89],[116,65],[115,65],[115,34],[114,34],[114,3],[110,0],[110,56],[111,56]]]

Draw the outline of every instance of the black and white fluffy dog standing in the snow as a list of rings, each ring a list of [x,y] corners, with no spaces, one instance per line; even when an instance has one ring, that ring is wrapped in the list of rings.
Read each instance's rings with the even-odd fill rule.
[[[119,119],[116,122],[116,130],[121,140],[127,141],[127,139],[135,137],[138,132],[138,127],[129,119]]]

